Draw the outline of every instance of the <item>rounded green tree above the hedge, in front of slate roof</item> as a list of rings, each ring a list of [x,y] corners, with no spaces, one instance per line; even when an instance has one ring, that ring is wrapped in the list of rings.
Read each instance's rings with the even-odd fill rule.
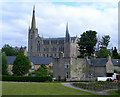
[[[13,63],[13,74],[23,76],[29,72],[30,68],[31,65],[29,58],[27,56],[24,56],[24,54],[19,53]]]

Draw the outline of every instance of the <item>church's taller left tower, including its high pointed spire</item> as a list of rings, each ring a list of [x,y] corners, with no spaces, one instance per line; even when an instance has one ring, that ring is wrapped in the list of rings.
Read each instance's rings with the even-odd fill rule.
[[[33,15],[32,15],[32,22],[31,27],[29,27],[28,33],[28,55],[34,56],[35,53],[35,40],[38,37],[38,29],[36,28],[36,21],[35,21],[35,6],[33,7]]]

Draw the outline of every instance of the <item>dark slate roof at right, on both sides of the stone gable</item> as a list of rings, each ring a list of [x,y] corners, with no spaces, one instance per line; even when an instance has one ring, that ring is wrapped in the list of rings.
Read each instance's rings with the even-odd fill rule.
[[[107,61],[106,58],[88,59],[88,63],[91,66],[105,66]],[[120,66],[120,59],[112,59],[111,61],[114,66]]]

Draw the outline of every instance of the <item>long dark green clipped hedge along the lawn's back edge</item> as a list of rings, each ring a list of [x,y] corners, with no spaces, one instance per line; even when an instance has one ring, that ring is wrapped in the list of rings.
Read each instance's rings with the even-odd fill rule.
[[[2,81],[45,82],[52,81],[51,76],[2,76]]]

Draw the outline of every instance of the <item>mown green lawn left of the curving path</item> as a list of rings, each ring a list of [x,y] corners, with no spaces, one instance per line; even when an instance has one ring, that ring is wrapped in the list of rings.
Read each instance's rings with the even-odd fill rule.
[[[94,95],[68,88],[61,83],[17,83],[3,82],[2,95]]]

